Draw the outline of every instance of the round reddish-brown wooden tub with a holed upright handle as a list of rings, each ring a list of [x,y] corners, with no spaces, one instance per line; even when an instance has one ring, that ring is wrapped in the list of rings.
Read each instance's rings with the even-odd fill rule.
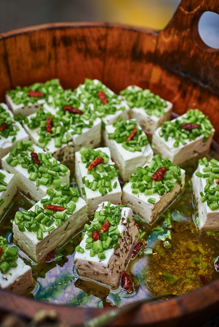
[[[200,39],[197,23],[204,11],[219,13],[216,0],[183,0],[160,32],[107,23],[58,23],[0,35],[0,97],[17,85],[58,77],[75,88],[98,78],[115,92],[136,84],[173,102],[183,114],[199,108],[219,141],[219,52]],[[113,326],[198,326],[218,315],[219,280],[164,302],[144,304]],[[80,324],[110,309],[57,306],[0,292],[1,312],[32,318],[53,309],[64,323]]]

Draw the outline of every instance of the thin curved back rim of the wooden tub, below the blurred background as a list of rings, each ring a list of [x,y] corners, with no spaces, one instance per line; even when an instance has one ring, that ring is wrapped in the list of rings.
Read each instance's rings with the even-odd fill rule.
[[[87,27],[106,27],[106,28],[120,28],[134,32],[145,32],[151,35],[157,35],[159,30],[153,30],[147,27],[132,26],[128,24],[107,23],[107,22],[63,22],[63,23],[48,23],[41,25],[33,25],[22,28],[17,28],[8,32],[0,33],[0,37],[10,38],[20,34],[34,33],[36,31],[50,30],[50,29],[66,29],[66,28],[87,28]]]

